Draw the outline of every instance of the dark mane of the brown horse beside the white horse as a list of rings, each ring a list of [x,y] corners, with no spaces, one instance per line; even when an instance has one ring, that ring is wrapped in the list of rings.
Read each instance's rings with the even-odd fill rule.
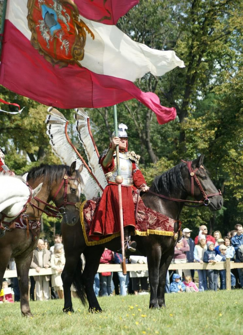
[[[53,181],[61,179],[66,171],[68,173],[70,171],[70,167],[68,165],[41,164],[38,167],[32,168],[28,172],[27,181],[30,179],[44,177],[44,180],[48,179],[48,184],[51,186]]]

